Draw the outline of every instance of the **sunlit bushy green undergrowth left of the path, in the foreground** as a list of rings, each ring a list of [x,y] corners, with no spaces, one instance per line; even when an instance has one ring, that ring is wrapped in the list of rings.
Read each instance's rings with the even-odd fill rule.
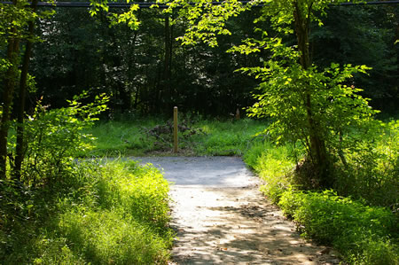
[[[81,162],[63,174],[30,191],[22,219],[3,223],[4,264],[166,264],[168,183],[155,168]]]

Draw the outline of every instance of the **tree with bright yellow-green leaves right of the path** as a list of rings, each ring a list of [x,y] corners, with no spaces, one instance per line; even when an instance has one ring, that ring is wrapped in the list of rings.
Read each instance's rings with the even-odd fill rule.
[[[352,74],[365,72],[365,66],[332,64],[320,71],[310,60],[309,31],[312,22],[323,25],[329,4],[344,1],[267,0],[242,4],[225,1],[175,1],[167,3],[169,9],[179,7],[179,13],[189,20],[191,27],[180,39],[183,44],[205,42],[217,45],[217,35],[231,35],[226,21],[256,4],[264,4],[260,18],[270,19],[276,37],[262,31],[261,41],[246,39],[243,45],[231,51],[253,53],[263,49],[271,51],[263,67],[243,68],[244,72],[262,79],[259,102],[252,107],[255,116],[272,116],[270,128],[279,140],[301,144],[306,150],[306,162],[311,165],[317,185],[332,185],[334,154],[345,163],[343,156],[344,133],[350,126],[361,125],[374,113],[367,101],[357,95],[360,91],[350,83]],[[168,10],[167,10],[168,12]],[[295,34],[296,45],[287,45],[279,35]],[[343,124],[345,124],[343,126]],[[347,126],[347,127],[345,127]],[[348,142],[347,142],[348,143]]]

